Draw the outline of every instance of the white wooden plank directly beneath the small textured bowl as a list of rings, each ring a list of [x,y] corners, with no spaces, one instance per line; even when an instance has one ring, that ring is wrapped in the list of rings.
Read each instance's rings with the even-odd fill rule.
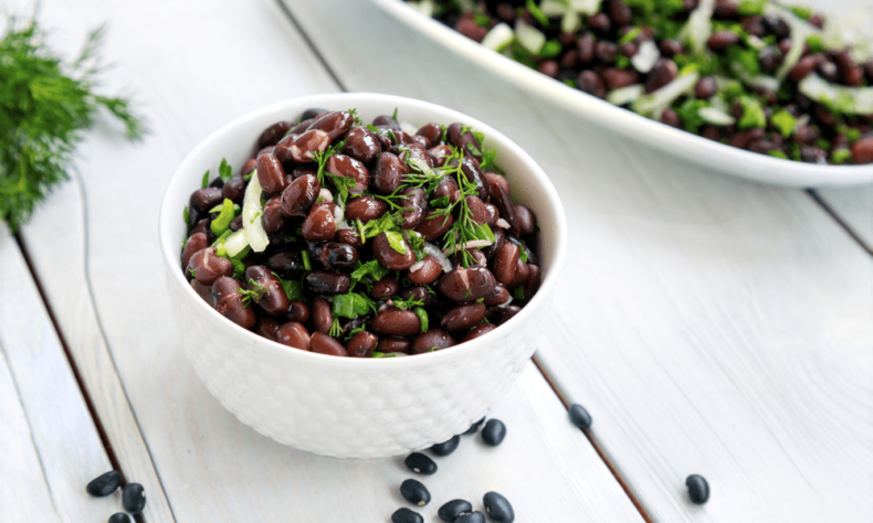
[[[106,51],[116,66],[107,84],[125,78],[137,85],[154,131],[139,146],[91,136],[81,149],[81,175],[57,191],[23,233],[76,363],[86,367],[88,388],[116,376],[103,360],[80,362],[81,352],[96,346],[101,357],[108,354],[106,362],[116,365],[138,426],[118,427],[114,437],[139,441],[135,429],[141,430],[141,445],[147,444],[179,522],[272,521],[287,514],[301,521],[339,521],[349,514],[387,521],[402,504],[397,492],[408,477],[402,459],[322,458],[240,424],[209,395],[185,359],[160,290],[157,209],[188,150],[255,107],[335,90],[334,84],[276,3],[224,2],[207,13],[194,2],[169,1],[145,7],[94,0],[76,8],[60,2],[44,8],[63,28],[109,18]],[[207,20],[191,24],[191,13]],[[161,28],[159,41],[156,26]],[[198,56],[193,63],[177,57],[189,47]],[[70,258],[63,274],[53,270],[57,253]],[[88,289],[93,308],[76,301]],[[104,423],[117,423],[115,408],[104,404],[98,409]],[[438,502],[481,500],[487,490],[498,490],[513,501],[519,520],[544,514],[555,521],[641,521],[533,366],[495,415],[509,427],[506,442],[487,449],[465,438],[455,456],[440,461],[442,470],[424,480]],[[424,511],[429,520],[435,509]]]

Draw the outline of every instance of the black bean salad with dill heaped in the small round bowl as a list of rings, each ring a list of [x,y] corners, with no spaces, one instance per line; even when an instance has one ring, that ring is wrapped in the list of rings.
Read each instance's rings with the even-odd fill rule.
[[[414,134],[413,134],[414,132]],[[534,212],[462,124],[309,109],[185,209],[181,264],[230,321],[337,356],[448,349],[514,317],[539,288]]]

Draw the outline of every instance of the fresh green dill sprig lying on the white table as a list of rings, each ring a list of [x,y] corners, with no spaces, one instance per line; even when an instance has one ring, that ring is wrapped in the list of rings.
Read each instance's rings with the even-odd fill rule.
[[[101,107],[129,139],[145,127],[128,100],[93,92],[105,28],[93,31],[69,64],[48,47],[34,20],[22,25],[10,19],[8,28],[0,40],[0,220],[15,232],[67,178],[73,150]]]

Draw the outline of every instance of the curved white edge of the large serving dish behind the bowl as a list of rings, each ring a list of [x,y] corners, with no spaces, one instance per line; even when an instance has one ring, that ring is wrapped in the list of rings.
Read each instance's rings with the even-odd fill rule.
[[[579,89],[568,87],[428,18],[403,0],[372,0],[414,31],[427,35],[463,60],[488,70],[580,118],[612,130],[704,171],[787,186],[850,185],[873,182],[873,164],[819,166],[782,160],[729,147],[645,118]],[[800,2],[803,3],[803,2]],[[834,2],[835,3],[835,2]],[[833,6],[831,6],[833,8]]]

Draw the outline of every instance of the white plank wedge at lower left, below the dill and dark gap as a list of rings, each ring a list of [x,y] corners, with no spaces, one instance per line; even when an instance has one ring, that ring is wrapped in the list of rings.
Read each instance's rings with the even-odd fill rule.
[[[15,474],[7,467],[14,466],[19,452],[0,446],[4,455],[0,460],[0,470],[3,470],[0,476],[7,479],[0,481],[0,485],[12,485],[19,480],[43,482],[51,502],[41,510],[53,508],[59,521],[106,519],[113,510],[120,510],[119,495],[94,499],[85,492],[85,484],[112,470],[112,465],[42,298],[4,225],[0,225],[0,274],[3,275],[0,278],[0,296],[3,297],[0,300],[0,348],[18,393],[10,395],[8,401],[20,402],[28,427],[19,436],[32,439],[39,459],[39,467],[19,470]],[[7,463],[7,459],[12,461]],[[0,491],[6,490],[0,488]],[[17,489],[12,489],[11,495],[18,495]],[[42,502],[39,495],[23,498],[27,498],[25,504],[31,503],[31,499]],[[11,505],[0,502],[0,506]],[[6,521],[36,520],[11,517]]]

